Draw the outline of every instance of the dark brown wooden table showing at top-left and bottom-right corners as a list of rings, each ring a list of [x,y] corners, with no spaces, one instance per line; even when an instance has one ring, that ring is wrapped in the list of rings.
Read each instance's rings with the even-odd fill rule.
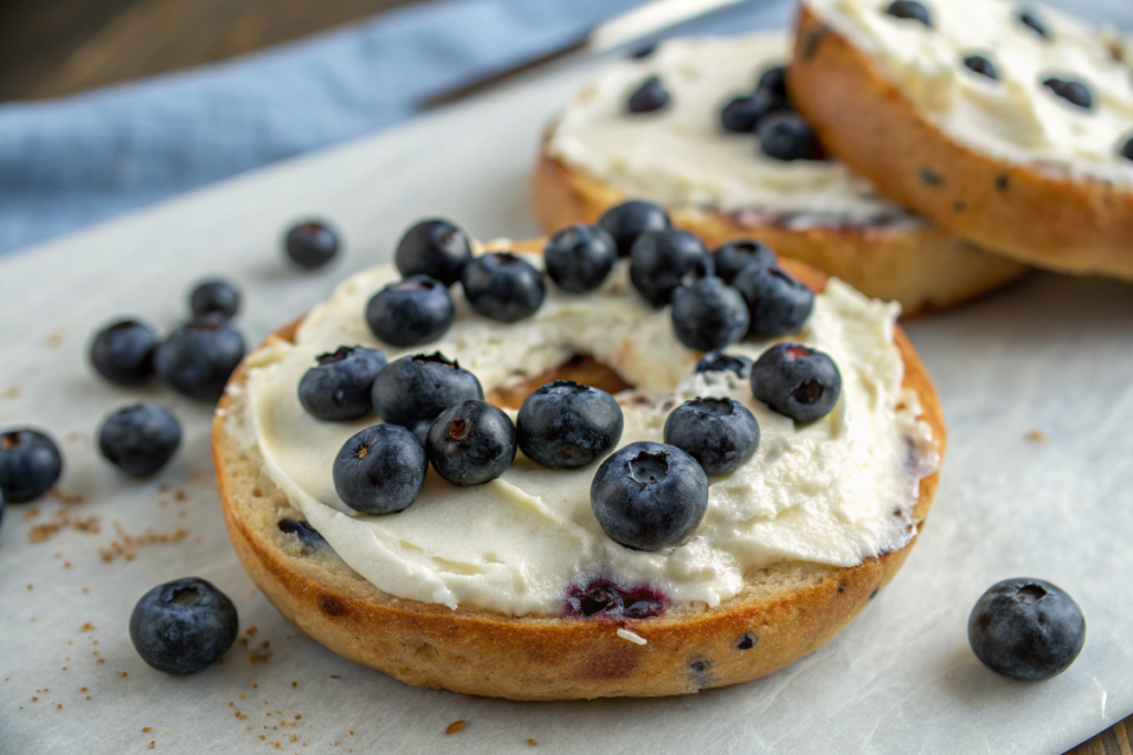
[[[3,0],[0,101],[223,60],[417,0]],[[1133,755],[1133,717],[1071,755]]]

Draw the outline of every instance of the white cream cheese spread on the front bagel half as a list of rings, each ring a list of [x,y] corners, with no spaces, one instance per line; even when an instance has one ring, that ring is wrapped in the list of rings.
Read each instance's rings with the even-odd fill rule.
[[[538,256],[529,259],[542,265]],[[693,375],[698,354],[676,341],[667,310],[650,309],[633,291],[625,265],[619,263],[593,294],[548,286],[539,310],[510,325],[476,315],[454,290],[452,328],[415,350],[377,343],[363,316],[369,297],[398,280],[397,271],[360,273],[310,310],[293,344],[275,341],[253,354],[246,413],[229,426],[258,449],[274,482],[355,570],[393,595],[452,608],[560,616],[568,586],[595,576],[648,585],[671,608],[710,607],[739,593],[746,572],[767,564],[851,566],[909,542],[919,481],[938,457],[915,395],[902,387],[894,304],[866,299],[840,281],[817,297],[800,340],[837,363],[842,397],[823,420],[795,426],[756,402],[747,380]],[[377,418],[320,422],[297,397],[318,354],[355,344],[380,348],[391,360],[440,350],[470,369],[486,393],[589,353],[637,386],[619,396],[625,418],[620,446],[661,441],[668,411],[693,396],[742,402],[758,418],[763,439],[743,466],[709,480],[708,511],[693,538],[658,552],[630,550],[602,531],[589,498],[597,462],[555,471],[520,454],[503,477],[472,488],[429,470],[406,511],[360,515],[335,495],[332,463],[347,438]],[[730,352],[755,358],[767,345],[746,342]]]

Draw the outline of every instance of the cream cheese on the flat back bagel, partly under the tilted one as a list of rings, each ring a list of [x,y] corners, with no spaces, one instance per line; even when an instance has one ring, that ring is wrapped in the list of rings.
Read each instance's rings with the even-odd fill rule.
[[[563,112],[552,156],[627,196],[668,207],[750,213],[789,228],[920,223],[834,161],[767,157],[751,134],[725,131],[721,111],[759,75],[790,60],[782,33],[671,40],[644,60],[603,71]],[[667,106],[630,113],[630,94],[659,76]]]

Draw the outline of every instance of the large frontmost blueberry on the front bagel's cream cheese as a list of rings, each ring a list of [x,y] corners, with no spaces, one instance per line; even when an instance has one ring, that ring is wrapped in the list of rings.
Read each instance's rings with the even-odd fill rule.
[[[603,531],[627,548],[679,546],[708,511],[708,478],[675,446],[631,443],[598,467],[590,508]]]

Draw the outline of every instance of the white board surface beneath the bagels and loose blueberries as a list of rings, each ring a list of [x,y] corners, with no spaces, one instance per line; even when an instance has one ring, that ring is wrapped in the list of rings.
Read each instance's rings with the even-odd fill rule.
[[[530,739],[551,752],[1055,753],[1133,712],[1133,289],[1100,280],[1036,274],[910,324],[951,434],[927,529],[849,629],[768,678],[590,703],[423,690],[299,636],[253,590],[221,521],[210,411],[96,379],[88,337],[119,314],[172,326],[190,284],[222,273],[245,291],[239,325],[256,343],[389,260],[421,216],[482,239],[533,234],[538,135],[586,75],[521,83],[0,260],[0,427],[46,428],[67,460],[65,499],[9,506],[0,530],[0,752],[501,753]],[[315,274],[279,250],[307,214],[347,241]],[[186,430],[148,482],[92,447],[101,417],[139,395],[168,402]],[[246,644],[172,678],[142,662],[127,621],[145,591],[186,575],[235,600]],[[1017,575],[1059,584],[1087,616],[1082,655],[1050,681],[997,678],[968,647],[972,603]]]

